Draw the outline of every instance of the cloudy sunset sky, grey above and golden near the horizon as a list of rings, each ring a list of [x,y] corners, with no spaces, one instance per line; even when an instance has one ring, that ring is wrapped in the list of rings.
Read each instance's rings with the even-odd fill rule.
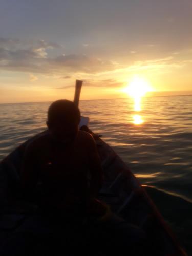
[[[0,0],[0,103],[192,91],[191,0]],[[175,91],[179,91],[175,93]]]

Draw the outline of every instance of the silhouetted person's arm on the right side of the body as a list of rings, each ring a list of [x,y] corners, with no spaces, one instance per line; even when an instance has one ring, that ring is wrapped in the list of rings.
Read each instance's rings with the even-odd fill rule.
[[[96,143],[92,135],[88,140],[89,169],[91,173],[90,196],[95,198],[102,187],[104,175]]]

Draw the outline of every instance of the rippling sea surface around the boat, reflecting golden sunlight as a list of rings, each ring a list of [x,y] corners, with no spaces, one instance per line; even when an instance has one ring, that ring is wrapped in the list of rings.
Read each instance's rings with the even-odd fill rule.
[[[46,129],[50,102],[0,104],[0,160]],[[192,96],[80,101],[89,127],[111,145],[191,252]]]

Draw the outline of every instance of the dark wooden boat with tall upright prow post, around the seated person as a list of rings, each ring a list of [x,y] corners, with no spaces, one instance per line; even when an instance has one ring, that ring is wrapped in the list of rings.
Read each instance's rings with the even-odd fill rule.
[[[77,80],[74,99],[76,104],[79,101],[81,85],[82,82]],[[98,196],[99,200],[109,205],[111,212],[123,218],[126,222],[144,230],[152,247],[152,252],[144,255],[187,255],[177,238],[175,238],[172,230],[170,230],[160,215],[155,204],[147,195],[145,188],[140,184],[129,167],[101,139],[101,136],[89,129],[88,118],[82,118],[80,129],[93,135],[101,158],[105,180]],[[28,143],[46,132],[37,134],[18,146],[0,163],[0,247],[28,218],[29,212],[32,209],[35,211],[35,205],[27,204],[20,200],[22,192],[19,171]],[[84,255],[105,254],[94,254],[92,252]],[[129,255],[129,252],[127,252],[127,255]]]

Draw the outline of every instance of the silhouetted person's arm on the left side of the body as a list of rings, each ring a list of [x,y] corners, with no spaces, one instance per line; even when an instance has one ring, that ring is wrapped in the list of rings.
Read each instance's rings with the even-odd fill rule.
[[[39,174],[38,158],[35,146],[30,144],[27,146],[22,164],[21,183],[24,191],[24,197],[31,199],[37,184]]]

